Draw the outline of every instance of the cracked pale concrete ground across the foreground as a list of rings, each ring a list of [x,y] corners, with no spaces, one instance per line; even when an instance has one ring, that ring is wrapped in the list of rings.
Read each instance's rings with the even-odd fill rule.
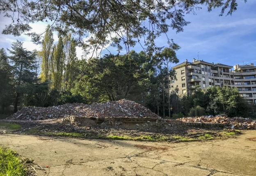
[[[0,135],[0,145],[32,158],[40,176],[255,176],[256,130],[205,142],[137,142]],[[149,147],[142,147],[149,146]]]

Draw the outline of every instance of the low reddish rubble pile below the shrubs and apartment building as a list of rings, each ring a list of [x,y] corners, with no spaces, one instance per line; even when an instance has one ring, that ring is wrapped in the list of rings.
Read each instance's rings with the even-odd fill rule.
[[[226,115],[217,115],[217,116],[201,116],[201,117],[187,117],[177,119],[185,123],[221,123],[224,126],[232,129],[255,129],[256,130],[256,121],[249,118],[242,117],[227,117]]]

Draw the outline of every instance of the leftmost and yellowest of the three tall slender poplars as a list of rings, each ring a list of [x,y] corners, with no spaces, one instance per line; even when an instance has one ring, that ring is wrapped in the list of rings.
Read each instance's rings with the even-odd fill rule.
[[[53,46],[53,32],[50,30],[50,25],[46,27],[46,33],[42,41],[42,50],[39,52],[39,56],[42,59],[41,62],[41,74],[40,78],[42,82],[50,79],[50,56]]]

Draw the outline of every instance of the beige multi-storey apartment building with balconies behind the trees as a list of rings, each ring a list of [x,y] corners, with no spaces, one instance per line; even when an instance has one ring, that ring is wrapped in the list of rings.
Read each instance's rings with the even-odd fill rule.
[[[233,68],[233,70],[232,70]],[[211,86],[237,87],[241,96],[256,103],[256,66],[229,66],[193,59],[174,67],[176,80],[171,80],[171,89],[178,88],[179,94],[189,94],[196,87],[206,89]]]

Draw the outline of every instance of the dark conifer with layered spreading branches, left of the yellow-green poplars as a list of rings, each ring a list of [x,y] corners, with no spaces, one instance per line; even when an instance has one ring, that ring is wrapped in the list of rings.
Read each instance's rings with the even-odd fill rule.
[[[16,41],[11,44],[9,57],[13,64],[14,85],[15,85],[15,100],[14,111],[18,110],[18,103],[20,103],[21,96],[23,95],[25,86],[32,84],[37,80],[35,73],[35,59],[36,53],[23,48],[23,43]]]

